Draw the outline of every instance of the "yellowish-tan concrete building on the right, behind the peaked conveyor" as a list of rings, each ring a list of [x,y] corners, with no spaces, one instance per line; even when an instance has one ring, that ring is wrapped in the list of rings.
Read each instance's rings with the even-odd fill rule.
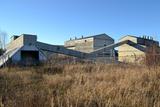
[[[159,46],[159,42],[153,40],[152,37],[136,37],[136,36],[124,36],[122,37],[119,41],[126,41],[129,40],[133,43],[135,43],[137,46],[135,47],[135,45],[130,45],[130,44],[122,44],[118,47],[118,60],[120,62],[141,62],[144,60],[145,55],[146,55],[146,51],[145,50],[141,50],[139,47],[142,47],[144,49],[147,49],[148,47],[152,46],[152,45],[156,45]]]

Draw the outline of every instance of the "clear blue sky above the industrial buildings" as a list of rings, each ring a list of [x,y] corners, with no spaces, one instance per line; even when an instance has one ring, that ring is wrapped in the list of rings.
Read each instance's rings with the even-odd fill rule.
[[[159,11],[159,0],[0,0],[0,29],[51,44],[100,33],[160,40]]]

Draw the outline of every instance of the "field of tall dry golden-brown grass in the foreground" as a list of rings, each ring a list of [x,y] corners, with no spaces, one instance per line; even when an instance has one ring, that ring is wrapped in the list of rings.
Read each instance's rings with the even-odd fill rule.
[[[0,70],[5,107],[160,107],[160,67],[67,64]]]

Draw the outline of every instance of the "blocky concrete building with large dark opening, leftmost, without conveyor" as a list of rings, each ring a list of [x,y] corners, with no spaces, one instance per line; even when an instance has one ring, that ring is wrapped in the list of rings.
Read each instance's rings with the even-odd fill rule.
[[[37,36],[22,34],[11,37],[11,42],[6,46],[6,52],[1,56],[0,65],[3,63],[36,64],[46,60],[43,52],[36,47]]]

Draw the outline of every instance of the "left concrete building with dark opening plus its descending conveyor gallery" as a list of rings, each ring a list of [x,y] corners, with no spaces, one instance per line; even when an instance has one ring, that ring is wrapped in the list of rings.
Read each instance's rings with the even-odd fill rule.
[[[11,38],[11,42],[6,46],[6,52],[0,57],[0,66],[6,63],[33,65],[47,60],[54,53],[79,58],[85,56],[85,53],[64,46],[39,42],[36,35],[22,34]]]

